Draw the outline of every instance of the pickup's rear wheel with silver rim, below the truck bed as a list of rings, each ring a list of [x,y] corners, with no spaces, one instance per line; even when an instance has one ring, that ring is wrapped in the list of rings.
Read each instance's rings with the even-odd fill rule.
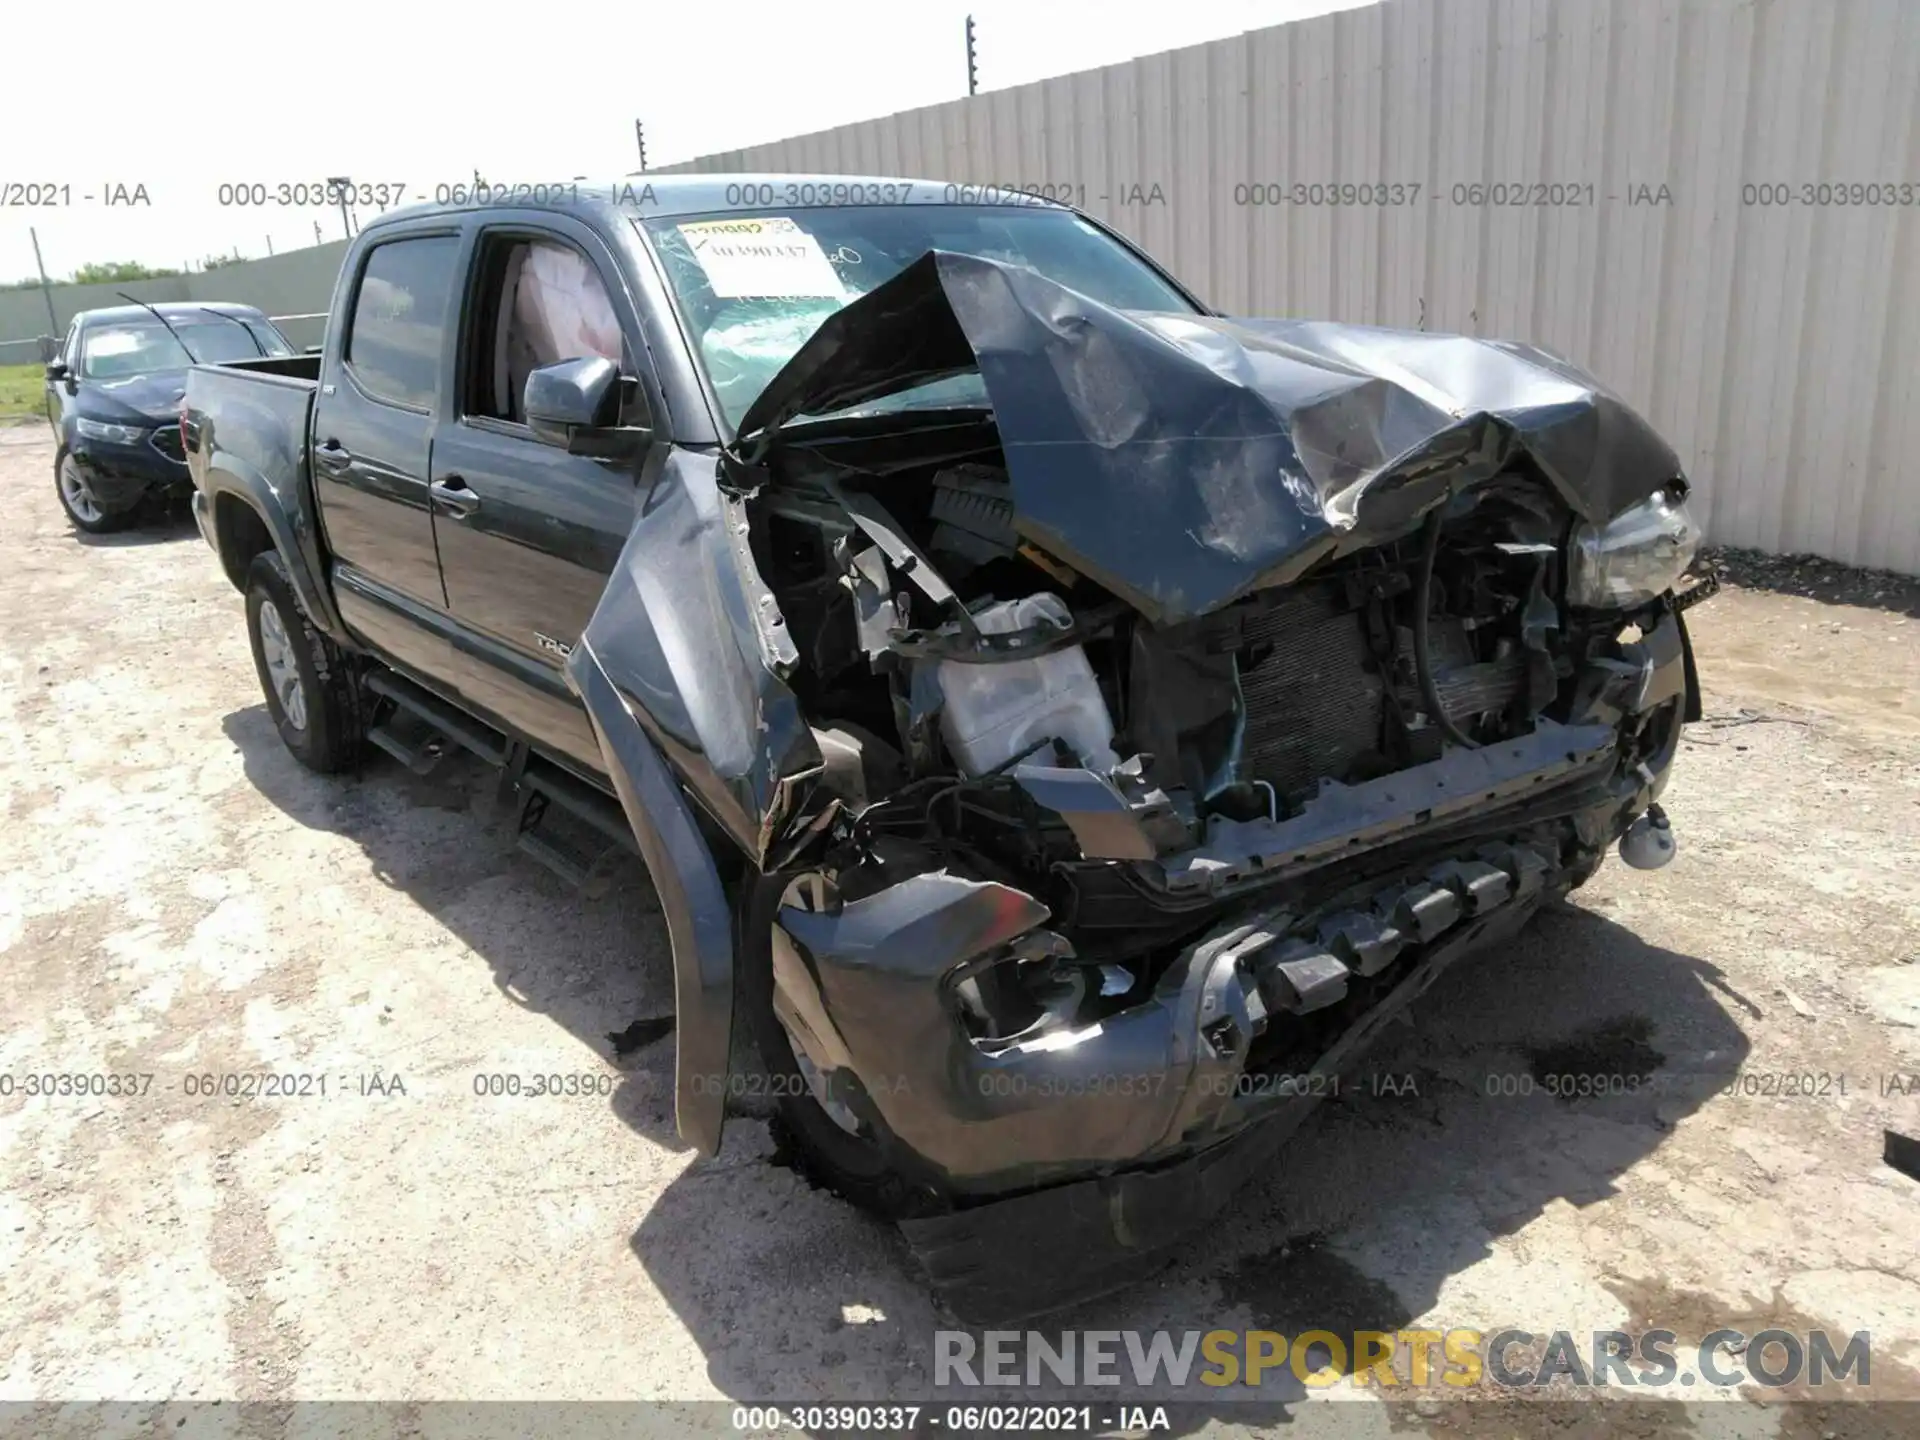
[[[300,609],[286,561],[276,551],[255,555],[248,568],[246,636],[253,647],[253,672],[267,697],[267,712],[286,749],[307,770],[323,776],[351,768],[367,739],[359,676],[348,655],[315,630]],[[290,662],[300,682],[300,691],[288,691],[284,699],[288,672],[284,664],[276,664],[278,659]]]

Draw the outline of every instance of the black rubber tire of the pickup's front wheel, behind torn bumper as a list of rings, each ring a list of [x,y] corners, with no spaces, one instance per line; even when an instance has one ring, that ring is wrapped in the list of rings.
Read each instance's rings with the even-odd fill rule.
[[[774,1137],[814,1185],[872,1215],[895,1221],[941,1213],[948,1204],[931,1185],[902,1173],[900,1144],[885,1123],[874,1116],[860,1135],[847,1131],[814,1098],[793,1058],[793,1043],[774,1014],[774,918],[791,881],[745,876],[737,910],[737,998],[774,1094]]]

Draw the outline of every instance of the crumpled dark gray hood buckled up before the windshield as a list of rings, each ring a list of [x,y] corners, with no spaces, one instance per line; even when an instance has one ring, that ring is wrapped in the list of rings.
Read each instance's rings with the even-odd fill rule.
[[[1117,311],[941,250],[831,315],[739,434],[966,371],[1018,530],[1160,624],[1404,536],[1521,457],[1594,522],[1680,474],[1620,397],[1532,346]]]

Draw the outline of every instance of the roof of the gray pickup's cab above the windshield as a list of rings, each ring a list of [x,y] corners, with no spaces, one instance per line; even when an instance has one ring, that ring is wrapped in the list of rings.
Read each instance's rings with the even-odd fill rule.
[[[1018,204],[1052,205],[1000,186],[954,184],[904,175],[660,175],[643,171],[611,180],[553,180],[545,184],[490,184],[478,198],[472,186],[442,186],[463,200],[428,202],[390,209],[367,228],[424,215],[457,215],[472,209],[511,205],[515,209],[616,209],[634,217],[701,215],[728,209],[818,209],[835,205],[975,205]]]

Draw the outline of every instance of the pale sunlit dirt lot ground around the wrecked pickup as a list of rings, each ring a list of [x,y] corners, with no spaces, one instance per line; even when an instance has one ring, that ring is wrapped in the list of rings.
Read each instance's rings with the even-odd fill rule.
[[[697,1164],[670,1041],[611,1058],[672,1004],[643,872],[572,897],[478,770],[305,774],[190,526],[83,543],[36,430],[0,430],[0,1073],[156,1077],[0,1096],[0,1398],[931,1394],[954,1321],[902,1242],[762,1121]],[[1882,1164],[1884,1127],[1920,1133],[1920,611],[1845,593],[1695,611],[1680,858],[1613,860],[1467,962],[1369,1066],[1411,1092],[1323,1108],[1169,1271],[1046,1327],[1770,1317],[1870,1329],[1876,1392],[1920,1396],[1920,1185]],[[1630,1096],[1500,1092],[1651,1066]],[[261,1069],[328,1091],[188,1092]],[[474,1092],[549,1071],[611,1094]],[[1738,1071],[1828,1079],[1722,1094]]]

